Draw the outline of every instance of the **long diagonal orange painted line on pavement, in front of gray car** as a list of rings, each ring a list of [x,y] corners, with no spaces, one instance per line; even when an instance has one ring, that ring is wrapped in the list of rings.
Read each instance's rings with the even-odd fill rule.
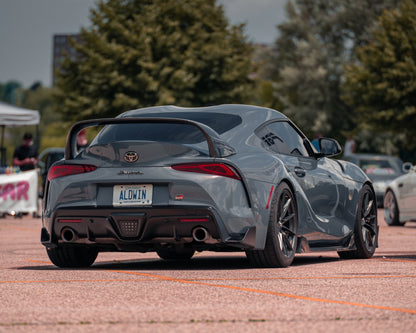
[[[304,300],[304,301],[350,305],[350,306],[370,308],[370,309],[389,310],[389,311],[397,311],[397,312],[405,312],[405,313],[416,314],[416,310],[412,310],[412,309],[402,309],[402,308],[395,308],[395,307],[390,307],[390,306],[371,305],[371,304],[365,304],[365,303],[355,303],[355,302],[345,302],[345,301],[336,301],[336,300],[315,298],[315,297],[309,297],[309,296],[299,296],[299,295],[278,293],[278,292],[269,291],[269,290],[244,288],[244,287],[237,287],[237,286],[226,286],[226,285],[213,284],[213,283],[207,283],[207,282],[190,281],[190,280],[177,279],[177,278],[172,278],[172,277],[168,277],[168,276],[148,274],[148,273],[129,272],[129,271],[120,271],[120,270],[108,270],[108,271],[115,272],[115,273],[133,274],[133,275],[153,277],[153,278],[158,278],[160,280],[165,280],[165,281],[170,281],[170,282],[179,282],[179,283],[195,284],[195,285],[207,286],[207,287],[216,287],[216,288],[248,291],[248,292],[255,292],[255,293],[260,293],[260,294],[268,294],[268,295],[274,295],[274,296],[281,296],[281,297],[299,299],[299,300]]]

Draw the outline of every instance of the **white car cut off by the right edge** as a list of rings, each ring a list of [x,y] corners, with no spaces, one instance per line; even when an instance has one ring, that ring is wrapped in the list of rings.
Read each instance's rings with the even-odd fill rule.
[[[393,180],[384,195],[384,218],[388,225],[416,221],[416,166],[405,163],[407,172]]]

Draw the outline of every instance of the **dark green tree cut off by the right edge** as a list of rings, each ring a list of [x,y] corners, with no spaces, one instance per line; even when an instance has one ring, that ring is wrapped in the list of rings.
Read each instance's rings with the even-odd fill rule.
[[[384,11],[374,40],[346,66],[344,99],[368,128],[416,147],[416,2]]]

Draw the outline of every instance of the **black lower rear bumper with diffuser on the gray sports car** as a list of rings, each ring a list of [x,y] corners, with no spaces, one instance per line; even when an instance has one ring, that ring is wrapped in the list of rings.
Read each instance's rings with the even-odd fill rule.
[[[201,231],[199,232],[198,231]],[[206,233],[206,237],[204,236]],[[255,227],[229,235],[211,207],[58,209],[44,217],[41,242],[96,246],[108,251],[153,251],[161,245],[195,250],[255,247]]]

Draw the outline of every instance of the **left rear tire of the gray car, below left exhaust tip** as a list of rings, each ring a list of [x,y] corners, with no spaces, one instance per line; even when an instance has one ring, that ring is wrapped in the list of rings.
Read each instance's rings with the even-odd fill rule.
[[[98,249],[76,246],[46,248],[49,259],[61,268],[90,267],[98,255]]]

